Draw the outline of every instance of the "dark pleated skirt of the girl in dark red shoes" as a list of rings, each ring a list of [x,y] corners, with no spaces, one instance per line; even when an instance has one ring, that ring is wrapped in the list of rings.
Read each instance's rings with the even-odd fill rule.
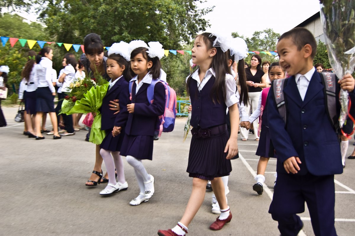
[[[232,165],[230,160],[226,159],[227,153],[224,153],[227,141],[227,131],[209,138],[192,136],[186,170],[189,176],[213,180],[215,177],[229,175]]]

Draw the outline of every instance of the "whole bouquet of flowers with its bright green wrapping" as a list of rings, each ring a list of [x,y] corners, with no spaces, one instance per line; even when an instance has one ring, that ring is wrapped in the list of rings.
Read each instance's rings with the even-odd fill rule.
[[[79,89],[72,88],[69,93],[71,95],[76,95],[76,99],[67,97],[63,101],[61,113],[67,115],[76,114],[76,113],[96,113],[96,116],[93,120],[89,141],[95,144],[101,144],[103,139],[106,136],[105,131],[101,130],[101,114],[99,108],[102,106],[102,99],[107,93],[109,83],[102,78],[101,76],[95,76],[95,79],[84,78],[90,80],[92,83],[89,86],[84,86],[86,89],[78,87]],[[76,82],[74,82],[76,83]]]

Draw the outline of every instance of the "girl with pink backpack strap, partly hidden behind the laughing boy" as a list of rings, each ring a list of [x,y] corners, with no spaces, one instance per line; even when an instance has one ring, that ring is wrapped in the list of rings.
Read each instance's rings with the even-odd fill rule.
[[[284,69],[279,65],[279,62],[273,62],[269,67],[269,78],[271,81],[274,79],[282,79],[285,77]],[[264,88],[261,92],[259,103],[257,109],[253,111],[253,114],[249,117],[249,124],[247,125],[250,127],[250,124],[260,117],[259,126],[261,127],[260,132],[260,141],[258,148],[256,150],[256,155],[260,156],[257,172],[255,176],[255,185],[253,185],[253,190],[256,191],[259,195],[263,194],[263,183],[265,181],[265,170],[267,163],[270,157],[274,157],[274,146],[272,145],[272,141],[270,139],[270,133],[268,128],[268,121],[267,121],[267,95],[269,93],[268,88]],[[272,91],[271,91],[272,93]]]

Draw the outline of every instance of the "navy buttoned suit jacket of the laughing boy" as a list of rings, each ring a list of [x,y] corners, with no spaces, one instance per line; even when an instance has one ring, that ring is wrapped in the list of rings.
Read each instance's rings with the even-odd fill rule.
[[[273,91],[273,86],[270,91]],[[337,94],[340,86],[338,83]],[[272,143],[277,153],[277,172],[287,173],[283,162],[290,157],[299,157],[300,171],[297,175],[333,175],[343,172],[340,144],[326,113],[321,77],[315,72],[310,80],[304,100],[297,88],[295,77],[288,79],[283,89],[287,103],[287,125],[280,116],[274,95],[268,94],[268,126]],[[354,100],[354,92],[350,93]],[[337,101],[337,112],[340,105]],[[264,123],[264,121],[263,121]]]

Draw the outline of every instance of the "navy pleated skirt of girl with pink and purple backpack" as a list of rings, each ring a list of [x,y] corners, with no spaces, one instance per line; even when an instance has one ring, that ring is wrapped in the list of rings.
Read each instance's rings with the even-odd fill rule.
[[[154,136],[124,136],[120,153],[122,156],[132,156],[140,160],[153,159]]]

